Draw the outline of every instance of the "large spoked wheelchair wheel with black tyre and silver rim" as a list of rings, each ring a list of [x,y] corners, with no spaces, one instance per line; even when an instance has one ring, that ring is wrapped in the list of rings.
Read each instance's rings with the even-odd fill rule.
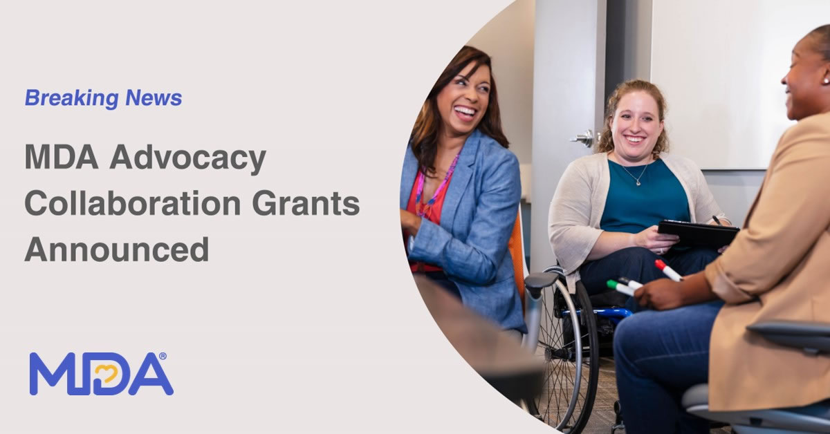
[[[545,271],[561,276],[558,267]],[[591,416],[597,393],[597,322],[582,285],[571,295],[563,285],[564,276],[560,280],[542,292],[536,355],[544,358],[546,368],[542,393],[530,402],[529,410],[561,432],[579,433]]]

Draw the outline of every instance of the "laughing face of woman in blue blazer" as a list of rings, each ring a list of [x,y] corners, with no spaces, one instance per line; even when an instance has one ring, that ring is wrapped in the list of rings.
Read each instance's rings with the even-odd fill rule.
[[[442,134],[463,137],[476,129],[490,104],[490,67],[470,62],[438,92],[436,105],[441,114]]]

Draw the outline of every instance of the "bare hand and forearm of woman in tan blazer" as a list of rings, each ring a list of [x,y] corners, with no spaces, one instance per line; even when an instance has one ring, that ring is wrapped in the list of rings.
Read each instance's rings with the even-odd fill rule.
[[[718,296],[712,292],[706,276],[701,271],[686,276],[679,282],[669,279],[652,280],[634,291],[634,298],[641,306],[654,310],[669,310],[716,300]]]

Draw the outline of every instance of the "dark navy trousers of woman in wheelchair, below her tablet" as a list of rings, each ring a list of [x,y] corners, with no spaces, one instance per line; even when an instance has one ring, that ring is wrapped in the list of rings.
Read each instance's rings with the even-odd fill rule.
[[[693,247],[686,250],[671,249],[660,256],[644,247],[627,247],[615,251],[596,261],[588,261],[579,267],[579,276],[588,295],[597,295],[608,291],[606,282],[609,279],[618,280],[627,277],[640,283],[647,283],[666,277],[654,261],[662,259],[672,270],[681,276],[694,274],[706,268],[718,256],[714,249]],[[631,297],[627,298],[625,308],[631,311],[638,310]]]

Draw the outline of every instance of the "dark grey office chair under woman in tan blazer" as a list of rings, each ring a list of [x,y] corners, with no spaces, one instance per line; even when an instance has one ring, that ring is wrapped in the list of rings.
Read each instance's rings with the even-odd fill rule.
[[[830,324],[827,323],[768,321],[749,325],[747,329],[776,344],[803,349],[805,357],[830,353]],[[698,384],[686,391],[682,405],[696,416],[729,423],[739,434],[830,432],[830,399],[804,407],[710,412],[708,384]]]

